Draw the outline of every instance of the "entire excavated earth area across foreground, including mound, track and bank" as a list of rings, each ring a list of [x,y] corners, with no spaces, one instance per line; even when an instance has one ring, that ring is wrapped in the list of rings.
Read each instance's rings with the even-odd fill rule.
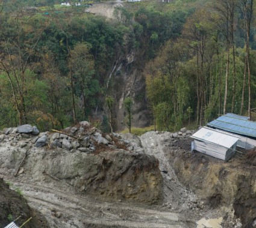
[[[19,194],[13,209],[17,193],[0,185],[0,205],[8,199],[11,208],[1,226],[11,214],[33,217],[28,227],[254,227],[254,152],[228,163],[192,154],[191,133],[106,135],[88,124],[39,136],[5,130],[0,175],[27,202]]]

